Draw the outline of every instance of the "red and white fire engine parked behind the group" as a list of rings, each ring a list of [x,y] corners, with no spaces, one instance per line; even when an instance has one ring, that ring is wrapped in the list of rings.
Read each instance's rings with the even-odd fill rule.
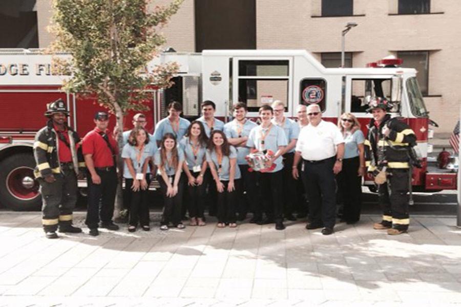
[[[62,54],[60,56],[68,56]],[[413,169],[413,190],[436,191],[456,188],[456,173],[428,164],[432,135],[423,97],[414,69],[400,68],[399,59],[383,59],[367,68],[325,68],[305,50],[204,50],[202,53],[164,52],[149,63],[175,61],[180,65],[175,84],[153,90],[148,129],[164,116],[165,104],[183,104],[183,116],[200,115],[200,102],[216,103],[215,116],[231,120],[232,106],[245,102],[248,116],[258,117],[263,104],[281,100],[285,116],[296,117],[299,104],[318,104],[323,119],[337,122],[344,112],[359,118],[364,134],[371,115],[366,113],[368,96],[386,97],[393,103],[392,116],[400,117],[415,132],[423,157],[423,168]],[[92,114],[100,107],[91,99],[60,91],[67,76],[52,74],[51,56],[38,50],[0,50],[0,203],[28,210],[39,207],[38,185],[33,179],[33,137],[45,125],[46,103],[62,98],[71,112],[69,125],[84,136],[93,128]],[[131,128],[131,116],[125,116]],[[113,125],[115,120],[111,121]],[[374,187],[370,178],[365,185]]]

